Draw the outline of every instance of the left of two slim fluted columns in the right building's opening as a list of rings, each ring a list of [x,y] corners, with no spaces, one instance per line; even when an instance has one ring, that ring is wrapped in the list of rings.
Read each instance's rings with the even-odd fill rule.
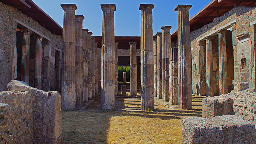
[[[206,93],[213,97],[213,56],[212,56],[212,37],[206,37]]]

